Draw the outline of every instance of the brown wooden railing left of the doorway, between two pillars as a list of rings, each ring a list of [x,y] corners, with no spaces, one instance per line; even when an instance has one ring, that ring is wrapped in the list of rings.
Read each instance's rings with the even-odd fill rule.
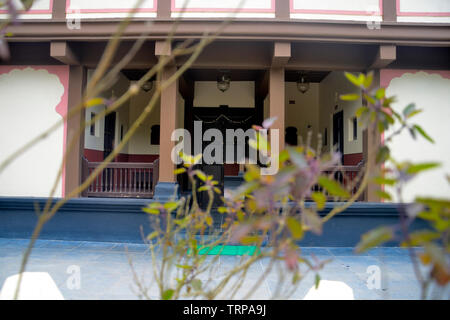
[[[83,158],[83,181],[101,164]],[[153,163],[111,162],[83,192],[84,197],[152,198],[159,160]]]

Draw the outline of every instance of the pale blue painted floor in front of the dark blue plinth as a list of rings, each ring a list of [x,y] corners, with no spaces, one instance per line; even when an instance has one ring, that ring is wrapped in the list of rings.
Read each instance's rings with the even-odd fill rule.
[[[5,279],[18,273],[23,250],[28,240],[0,238],[0,285]],[[128,253],[126,252],[126,250]],[[355,299],[418,299],[419,285],[415,279],[408,253],[400,248],[377,248],[364,255],[354,255],[352,248],[304,248],[306,257],[314,255],[319,260],[328,260],[320,272],[324,280],[345,282],[353,290]],[[211,258],[211,257],[209,257]],[[156,285],[152,279],[152,263],[144,244],[124,244],[110,242],[83,242],[38,240],[31,255],[29,272],[48,272],[56,282],[65,299],[139,299],[133,281],[131,259],[141,283],[149,287],[151,298],[158,298]],[[204,275],[204,283],[217,282],[220,275],[232,268],[239,257],[220,257],[216,276]],[[252,266],[243,288],[250,288],[264,272],[268,261]],[[70,287],[70,267],[80,270],[79,288]],[[380,288],[369,289],[368,267],[379,268],[382,275]],[[73,270],[73,269],[72,269]],[[270,299],[276,294],[278,272],[270,272],[264,283],[251,296],[253,299]],[[314,284],[314,276],[308,275],[290,296],[303,299]],[[450,298],[448,288],[444,298]],[[283,289],[282,289],[283,290]],[[245,292],[235,298],[243,298]],[[221,298],[228,298],[222,296]]]

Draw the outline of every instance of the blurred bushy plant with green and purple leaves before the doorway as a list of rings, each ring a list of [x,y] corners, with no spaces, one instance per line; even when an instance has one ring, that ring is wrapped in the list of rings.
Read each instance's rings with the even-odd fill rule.
[[[270,129],[271,123],[273,119],[268,119],[257,129]],[[250,145],[258,150],[270,148],[260,131]],[[202,155],[180,154],[184,167],[175,173],[188,176],[192,195],[144,208],[154,230],[147,240],[161,299],[248,299],[269,274],[277,278],[272,298],[288,298],[310,273],[319,285],[319,271],[328,261],[303,256],[301,240],[307,232],[322,234],[326,221],[360,198],[368,171],[349,181],[339,172],[340,154],[321,154],[309,141],[311,137],[304,146],[282,151],[275,175],[262,175],[258,166],[246,165],[245,182],[221,196],[223,206],[214,210],[214,193],[221,190],[212,176],[197,169]],[[317,150],[321,150],[320,137],[318,141]],[[336,173],[341,173],[343,183],[334,179]],[[198,203],[199,192],[208,194],[205,209]],[[319,212],[330,198],[343,204],[321,217]],[[213,221],[218,215],[223,220],[219,228]],[[230,248],[241,250],[242,257],[230,270],[223,270],[220,255]],[[248,274],[260,261],[266,266],[264,272],[249,282]],[[149,288],[137,276],[135,279],[140,295],[149,298]]]

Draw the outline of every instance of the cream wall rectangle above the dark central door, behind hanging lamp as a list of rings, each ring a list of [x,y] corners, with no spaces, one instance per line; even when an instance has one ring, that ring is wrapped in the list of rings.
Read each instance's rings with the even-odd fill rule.
[[[230,89],[225,92],[217,89],[216,81],[196,81],[194,107],[230,108],[255,107],[255,83],[253,81],[231,81]]]

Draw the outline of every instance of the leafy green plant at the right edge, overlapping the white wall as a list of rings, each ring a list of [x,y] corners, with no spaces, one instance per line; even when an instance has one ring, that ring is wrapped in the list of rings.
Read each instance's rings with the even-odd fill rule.
[[[385,168],[379,175],[372,177],[371,181],[380,186],[378,195],[381,199],[392,201],[394,199],[392,193],[394,194],[399,213],[398,224],[382,226],[363,235],[361,242],[356,247],[356,252],[362,253],[389,241],[408,248],[414,273],[422,289],[421,298],[425,299],[429,297],[431,284],[434,283],[443,289],[450,281],[448,259],[450,253],[450,199],[417,197],[413,203],[405,203],[403,196],[405,186],[419,174],[439,167],[439,163],[398,162],[391,156],[389,142],[404,131],[409,132],[413,139],[421,137],[430,143],[434,143],[434,141],[421,126],[411,121],[415,115],[423,111],[418,109],[415,104],[406,106],[401,113],[398,113],[392,108],[395,98],[387,97],[384,88],[369,90],[370,75],[369,77],[363,75],[355,77],[347,74],[347,77],[361,89],[363,98],[368,102],[368,106],[363,106],[357,111],[356,115],[360,121],[368,126],[376,125],[380,135],[387,134],[376,157],[377,162],[383,163]],[[356,100],[359,96],[346,95],[343,98]],[[391,191],[384,190],[384,187]],[[416,219],[428,221],[430,228],[410,231],[410,227]],[[425,266],[428,268],[424,268]],[[442,292],[443,290],[441,290]]]

